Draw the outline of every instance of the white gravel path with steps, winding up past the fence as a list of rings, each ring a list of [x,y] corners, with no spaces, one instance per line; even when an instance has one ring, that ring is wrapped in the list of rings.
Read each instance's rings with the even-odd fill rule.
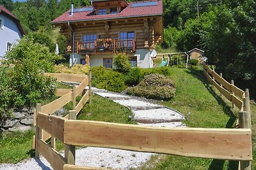
[[[112,99],[127,108],[134,114],[138,125],[152,127],[185,127],[182,120],[185,117],[178,111],[164,106],[153,104],[142,99],[136,99],[123,94],[107,92],[106,90],[93,89],[95,94]],[[63,153],[61,153],[63,155]],[[113,169],[130,169],[140,167],[156,153],[131,152],[111,148],[81,148],[76,150],[76,165],[91,167],[106,167]],[[44,157],[28,159],[17,164],[0,164],[0,169],[52,169]]]

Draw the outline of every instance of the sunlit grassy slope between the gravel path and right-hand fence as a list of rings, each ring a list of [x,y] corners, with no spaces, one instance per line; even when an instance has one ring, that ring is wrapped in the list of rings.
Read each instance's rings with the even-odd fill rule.
[[[190,112],[190,119],[186,121],[189,127],[234,127],[236,116],[230,109],[230,103],[224,103],[219,93],[214,92],[202,71],[172,67],[172,73],[177,87],[176,96],[172,101],[160,104],[174,108],[185,116]],[[236,169],[236,166],[237,162],[234,161],[161,155],[141,169]]]

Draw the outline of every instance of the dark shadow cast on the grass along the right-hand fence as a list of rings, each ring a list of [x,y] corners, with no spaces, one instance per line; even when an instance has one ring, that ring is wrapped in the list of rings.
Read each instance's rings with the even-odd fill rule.
[[[225,101],[223,101],[221,97],[214,92],[214,90],[212,89],[211,83],[209,83],[209,81],[205,78],[204,74],[202,73],[202,70],[191,69],[190,71],[186,71],[186,72],[189,74],[192,74],[193,76],[195,76],[195,78],[197,78],[198,80],[201,80],[204,83],[205,88],[211,93],[214,99],[216,99],[218,104],[220,104],[220,106],[222,107],[224,113],[229,117],[225,127],[232,128],[234,123],[236,122],[236,118],[237,118],[236,115],[234,115],[230,106],[227,106]],[[224,164],[225,164],[225,160],[213,159],[208,170],[223,169]],[[237,169],[237,168],[238,168],[238,161],[228,160],[228,170]]]

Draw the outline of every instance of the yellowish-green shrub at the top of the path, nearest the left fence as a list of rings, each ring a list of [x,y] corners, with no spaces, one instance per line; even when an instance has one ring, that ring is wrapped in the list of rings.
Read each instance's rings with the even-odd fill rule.
[[[122,73],[102,66],[92,68],[92,85],[112,92],[122,92],[127,87]]]

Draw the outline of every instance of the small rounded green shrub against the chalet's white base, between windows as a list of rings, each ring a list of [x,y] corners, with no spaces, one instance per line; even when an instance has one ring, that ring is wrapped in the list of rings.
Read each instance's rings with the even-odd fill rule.
[[[125,53],[116,53],[114,55],[115,70],[120,73],[127,73],[131,69],[131,64],[128,60],[128,55]]]

